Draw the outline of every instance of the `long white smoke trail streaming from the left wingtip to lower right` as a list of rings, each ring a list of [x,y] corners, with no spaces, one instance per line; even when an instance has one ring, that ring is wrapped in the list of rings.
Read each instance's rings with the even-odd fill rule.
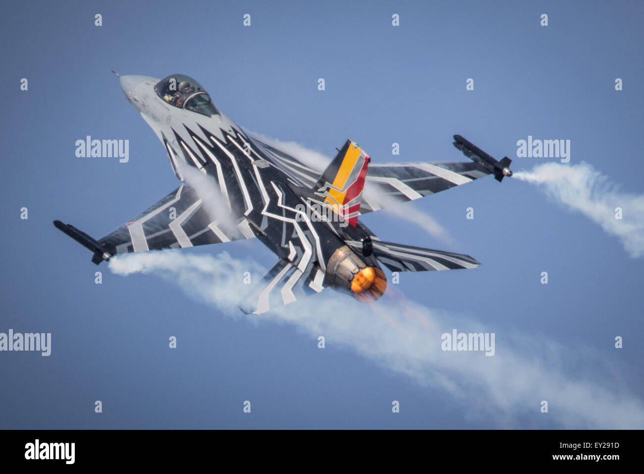
[[[245,317],[234,308],[247,293],[243,272],[253,273],[254,281],[255,273],[262,273],[252,261],[232,259],[225,252],[211,257],[173,250],[120,255],[111,259],[109,268],[119,275],[160,275],[234,317]],[[644,404],[614,386],[611,365],[589,348],[574,353],[544,337],[490,331],[404,299],[385,296],[366,306],[332,290],[249,318],[289,322],[316,339],[324,335],[327,347],[350,347],[420,384],[446,390],[469,416],[492,418],[499,428],[539,413],[542,400],[556,413],[551,419],[563,428],[644,428]],[[442,351],[441,335],[453,328],[497,333],[496,354]],[[579,370],[567,373],[564,361],[565,366],[592,366],[592,379],[580,378]]]

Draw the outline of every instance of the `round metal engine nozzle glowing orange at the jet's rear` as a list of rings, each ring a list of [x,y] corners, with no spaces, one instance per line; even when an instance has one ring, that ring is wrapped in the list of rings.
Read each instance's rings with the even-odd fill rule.
[[[376,301],[387,288],[387,279],[375,259],[366,264],[344,245],[327,262],[327,278],[336,290],[350,293],[357,301]]]

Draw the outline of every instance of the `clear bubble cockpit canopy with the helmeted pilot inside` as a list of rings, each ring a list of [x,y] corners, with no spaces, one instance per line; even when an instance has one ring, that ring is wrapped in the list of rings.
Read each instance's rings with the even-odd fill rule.
[[[201,84],[183,74],[169,75],[155,85],[156,95],[170,105],[207,116],[219,114]]]

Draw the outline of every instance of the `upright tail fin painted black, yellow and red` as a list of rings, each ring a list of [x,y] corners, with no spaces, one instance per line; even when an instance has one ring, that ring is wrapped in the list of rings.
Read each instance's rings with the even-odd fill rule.
[[[370,157],[347,140],[315,185],[325,204],[355,226]]]

